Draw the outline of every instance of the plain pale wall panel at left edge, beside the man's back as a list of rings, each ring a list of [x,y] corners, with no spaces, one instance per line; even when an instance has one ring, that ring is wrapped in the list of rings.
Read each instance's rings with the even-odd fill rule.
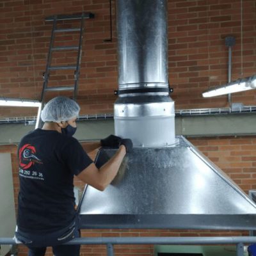
[[[13,237],[15,226],[11,154],[0,153],[0,237]],[[10,246],[2,245],[1,255],[9,250]]]

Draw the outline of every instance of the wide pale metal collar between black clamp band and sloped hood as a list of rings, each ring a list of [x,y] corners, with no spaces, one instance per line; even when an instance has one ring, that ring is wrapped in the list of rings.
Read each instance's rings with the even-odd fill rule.
[[[160,98],[160,97],[159,97]],[[118,101],[114,106],[115,134],[130,138],[134,147],[161,147],[175,143],[175,110],[170,97]],[[159,100],[159,99],[155,99]],[[164,101],[163,101],[164,100]]]

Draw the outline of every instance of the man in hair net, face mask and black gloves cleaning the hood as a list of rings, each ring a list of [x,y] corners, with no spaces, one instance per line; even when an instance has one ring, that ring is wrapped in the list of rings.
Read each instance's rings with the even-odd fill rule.
[[[94,148],[116,147],[116,153],[99,169],[73,138],[78,104],[56,97],[42,110],[42,129],[29,132],[18,148],[20,191],[15,238],[26,244],[29,256],[43,256],[52,246],[55,256],[78,256],[79,245],[63,245],[79,237],[74,198],[74,175],[103,191],[115,178],[132,141],[110,135]]]

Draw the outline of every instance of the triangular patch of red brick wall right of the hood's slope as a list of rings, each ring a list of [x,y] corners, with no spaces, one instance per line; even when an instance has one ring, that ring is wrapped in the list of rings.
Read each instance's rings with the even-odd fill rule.
[[[255,136],[189,139],[247,194],[256,189]]]

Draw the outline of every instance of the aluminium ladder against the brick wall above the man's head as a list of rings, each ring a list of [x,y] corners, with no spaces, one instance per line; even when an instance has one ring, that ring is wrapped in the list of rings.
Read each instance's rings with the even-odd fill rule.
[[[45,68],[45,72],[43,75],[44,84],[41,94],[41,102],[44,104],[44,95],[45,92],[61,92],[61,91],[73,91],[73,99],[76,100],[77,96],[77,87],[79,82],[79,72],[80,72],[80,64],[81,64],[81,54],[82,54],[82,44],[83,44],[83,31],[84,31],[84,19],[92,19],[94,17],[93,13],[82,13],[80,15],[54,15],[51,17],[45,18],[45,21],[53,21],[52,24],[52,33],[51,33],[51,42],[49,46],[49,52],[47,57],[47,64]],[[58,29],[57,22],[59,20],[81,20],[80,28],[64,28]],[[56,33],[63,32],[79,32],[79,45],[74,46],[59,46],[54,47],[54,39]],[[65,51],[65,50],[77,50],[77,61],[76,65],[65,65],[65,66],[52,66],[52,52],[53,51]],[[75,70],[74,72],[74,85],[72,86],[48,86],[49,76],[51,70]]]

